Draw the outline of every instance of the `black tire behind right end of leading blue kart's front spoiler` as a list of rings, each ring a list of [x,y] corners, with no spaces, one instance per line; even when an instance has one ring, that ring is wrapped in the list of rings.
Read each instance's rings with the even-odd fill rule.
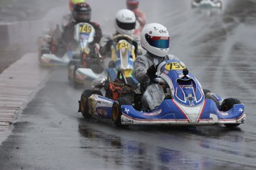
[[[226,98],[220,106],[220,111],[226,112],[234,106],[234,104],[239,104],[241,103],[238,99],[236,98]],[[240,123],[227,123],[224,124],[226,127],[237,127],[240,125]]]

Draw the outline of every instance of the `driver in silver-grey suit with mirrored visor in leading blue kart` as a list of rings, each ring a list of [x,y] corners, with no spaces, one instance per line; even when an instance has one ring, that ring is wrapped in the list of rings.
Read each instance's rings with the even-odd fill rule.
[[[164,96],[157,84],[151,82],[151,78],[155,77],[157,72],[157,64],[165,60],[180,60],[174,55],[168,55],[169,50],[169,33],[166,27],[161,24],[146,24],[140,35],[141,46],[147,52],[145,55],[137,56],[134,61],[133,75],[140,82],[142,90],[142,108],[154,109]],[[151,88],[148,88],[151,86]],[[148,92],[148,89],[151,91]],[[152,89],[156,92],[152,92]]]

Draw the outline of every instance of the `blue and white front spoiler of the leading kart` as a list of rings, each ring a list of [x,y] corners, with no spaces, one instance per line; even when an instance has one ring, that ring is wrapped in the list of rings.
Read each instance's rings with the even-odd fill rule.
[[[227,112],[217,109],[214,101],[206,99],[202,106],[182,107],[174,100],[165,100],[152,112],[139,112],[132,106],[123,105],[122,124],[168,124],[183,126],[200,126],[228,123],[244,123],[246,115],[243,104],[235,104]]]

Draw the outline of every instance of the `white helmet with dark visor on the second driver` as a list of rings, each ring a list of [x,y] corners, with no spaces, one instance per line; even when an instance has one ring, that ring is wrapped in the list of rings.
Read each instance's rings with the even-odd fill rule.
[[[115,27],[119,34],[133,35],[136,17],[131,10],[123,9],[116,13]]]

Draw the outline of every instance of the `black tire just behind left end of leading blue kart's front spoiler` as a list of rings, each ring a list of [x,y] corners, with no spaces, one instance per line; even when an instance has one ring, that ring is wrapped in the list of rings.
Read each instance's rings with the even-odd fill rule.
[[[131,101],[129,101],[127,98],[117,98],[116,101],[114,101],[114,104],[112,106],[112,121],[114,126],[116,127],[122,126],[122,105],[131,105]]]

